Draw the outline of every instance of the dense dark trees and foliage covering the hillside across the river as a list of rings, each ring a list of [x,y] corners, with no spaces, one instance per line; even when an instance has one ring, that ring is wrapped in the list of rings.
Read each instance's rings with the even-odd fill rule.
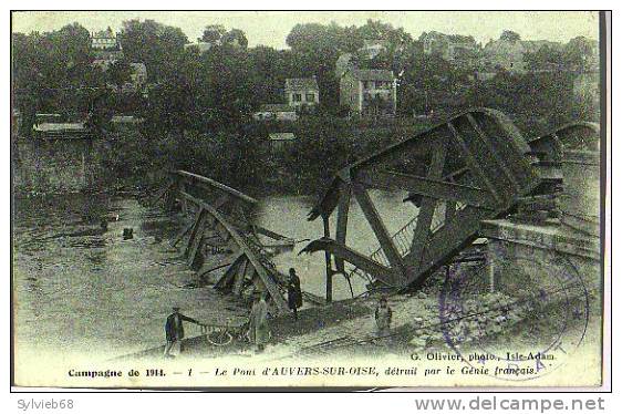
[[[520,39],[509,31],[501,37]],[[383,40],[384,51],[365,59],[361,48],[377,39]],[[89,120],[114,143],[107,146],[105,163],[120,178],[186,167],[253,187],[278,169],[290,177],[281,183],[283,188],[313,192],[348,159],[428,125],[429,120],[413,115],[431,108],[443,116],[468,106],[496,107],[530,132],[572,118],[598,120],[594,103],[579,102],[573,94],[577,74],[592,68],[597,59],[582,38],[561,51],[527,54],[532,72],[499,71],[487,81],[477,80],[477,68],[426,55],[422,43],[403,29],[372,20],[362,27],[297,24],[287,37],[287,50],[248,48],[242,31],[220,25],[206,27],[199,40],[212,46],[199,52],[185,48],[189,41],[179,28],[153,20],[126,21],[120,33],[124,59],[103,72],[92,64],[89,31],[79,23],[49,33],[13,33],[13,96],[23,131],[28,134],[35,113]],[[334,69],[343,53],[352,53],[361,68],[391,69],[398,75],[397,118],[342,117]],[[145,63],[148,87],[121,93],[132,62]],[[542,70],[551,65],[557,70]],[[287,77],[313,75],[320,86],[317,115],[287,125],[252,122],[260,104],[283,102]],[[108,123],[114,113],[134,114],[145,122],[134,133],[115,131]],[[270,149],[263,144],[271,131],[299,137],[277,166],[266,163]]]

